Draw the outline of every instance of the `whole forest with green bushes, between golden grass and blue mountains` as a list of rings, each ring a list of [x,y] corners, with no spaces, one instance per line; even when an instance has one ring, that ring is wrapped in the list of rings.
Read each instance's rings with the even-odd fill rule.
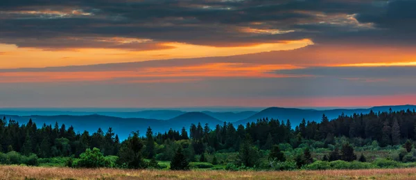
[[[181,131],[82,133],[66,125],[0,120],[0,163],[69,168],[327,170],[416,167],[416,113],[384,111],[320,122],[263,118]]]

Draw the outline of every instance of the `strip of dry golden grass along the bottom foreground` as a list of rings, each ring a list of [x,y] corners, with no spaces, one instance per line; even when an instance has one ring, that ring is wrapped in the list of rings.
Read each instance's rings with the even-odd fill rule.
[[[0,166],[0,179],[416,179],[416,168],[293,172],[189,172]]]

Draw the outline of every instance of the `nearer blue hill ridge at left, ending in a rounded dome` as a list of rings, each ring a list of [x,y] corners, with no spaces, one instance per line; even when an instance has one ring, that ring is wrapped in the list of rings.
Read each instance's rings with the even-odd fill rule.
[[[121,139],[127,138],[130,132],[135,132],[139,130],[141,135],[146,134],[147,127],[152,127],[153,132],[166,132],[169,129],[180,130],[182,127],[189,129],[191,123],[198,124],[200,122],[202,125],[209,123],[211,127],[215,127],[217,124],[222,124],[223,121],[220,121],[216,118],[208,116],[200,112],[190,112],[182,114],[170,120],[157,120],[157,119],[146,119],[146,118],[119,118],[113,116],[103,116],[98,114],[86,115],[86,116],[69,116],[69,115],[60,115],[60,116],[15,116],[15,115],[0,115],[2,118],[6,116],[7,120],[10,118],[16,120],[20,124],[28,123],[29,119],[32,119],[36,123],[37,127],[40,128],[44,123],[46,125],[55,125],[55,122],[58,122],[58,125],[61,126],[64,124],[67,128],[73,126],[76,132],[82,133],[84,130],[87,130],[90,134],[96,132],[98,127],[101,127],[104,132],[107,132],[108,127],[112,127],[116,134],[119,134]]]

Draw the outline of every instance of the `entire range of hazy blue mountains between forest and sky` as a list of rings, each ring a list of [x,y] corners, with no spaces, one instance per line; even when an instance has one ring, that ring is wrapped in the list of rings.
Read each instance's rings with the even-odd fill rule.
[[[298,125],[302,119],[315,120],[320,122],[322,114],[328,116],[331,120],[337,118],[340,114],[350,116],[356,114],[367,114],[370,110],[374,112],[378,111],[400,111],[406,109],[416,109],[415,105],[401,105],[401,106],[381,106],[371,107],[368,109],[329,109],[329,110],[315,110],[315,109],[296,109],[296,108],[283,108],[283,107],[269,107],[262,111],[241,111],[241,112],[211,112],[211,111],[174,111],[174,110],[150,110],[145,111],[148,118],[137,118],[135,116],[137,112],[121,112],[130,115],[125,115],[128,118],[121,118],[115,116],[105,116],[103,114],[111,115],[112,112],[104,112],[103,114],[83,114],[81,115],[28,115],[28,116],[17,116],[14,114],[4,114],[4,111],[0,111],[0,117],[6,116],[8,119],[17,120],[20,124],[26,124],[31,118],[33,122],[40,128],[44,123],[46,125],[55,125],[58,122],[59,125],[65,124],[66,127],[73,126],[76,132],[82,133],[84,130],[88,132],[96,132],[98,127],[101,127],[104,132],[107,131],[108,127],[112,127],[116,134],[119,134],[120,138],[127,138],[130,132],[139,130],[141,135],[146,133],[147,127],[152,127],[153,132],[166,132],[169,129],[180,130],[185,127],[189,130],[189,126],[193,124],[201,123],[205,125],[208,123],[211,128],[216,125],[222,125],[224,121],[231,122],[236,127],[237,125],[245,125],[251,123],[257,119],[262,118],[275,118],[279,120],[291,120],[293,127]],[[12,112],[12,111],[10,111]],[[79,113],[79,112],[77,112]],[[89,112],[91,113],[91,112]],[[119,112],[117,112],[119,113]],[[141,114],[141,116],[145,116]],[[119,114],[116,114],[119,115]],[[176,115],[176,116],[175,116]],[[173,117],[172,117],[173,116]],[[151,117],[164,117],[164,119],[157,119]],[[230,118],[231,117],[231,118]],[[241,118],[243,117],[243,118]],[[227,119],[228,118],[228,119]],[[238,118],[241,118],[238,120]]]

